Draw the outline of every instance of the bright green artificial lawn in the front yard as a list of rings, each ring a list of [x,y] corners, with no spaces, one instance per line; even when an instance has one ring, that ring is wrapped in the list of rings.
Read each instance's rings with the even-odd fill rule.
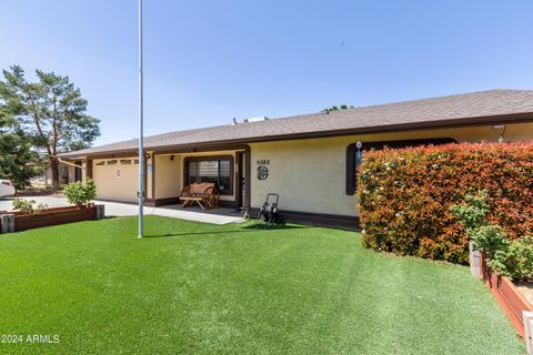
[[[50,354],[523,354],[466,267],[354,232],[150,216],[0,235],[0,344]]]

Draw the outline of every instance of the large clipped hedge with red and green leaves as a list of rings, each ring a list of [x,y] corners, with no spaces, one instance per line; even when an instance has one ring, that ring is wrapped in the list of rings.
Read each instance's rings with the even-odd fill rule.
[[[370,151],[358,173],[363,244],[376,251],[467,262],[450,206],[486,190],[489,221],[510,239],[533,234],[533,143],[461,143]]]

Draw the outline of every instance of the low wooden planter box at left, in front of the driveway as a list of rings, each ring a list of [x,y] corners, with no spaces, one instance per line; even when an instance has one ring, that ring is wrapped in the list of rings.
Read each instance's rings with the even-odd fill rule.
[[[103,205],[50,207],[39,214],[13,212],[2,215],[1,231],[19,232],[43,226],[98,220],[103,217]],[[9,224],[9,225],[7,225]]]

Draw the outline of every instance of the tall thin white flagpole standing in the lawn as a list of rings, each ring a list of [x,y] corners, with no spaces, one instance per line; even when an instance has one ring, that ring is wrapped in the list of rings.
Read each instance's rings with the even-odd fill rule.
[[[142,88],[142,0],[139,0],[139,237],[142,237],[143,213],[142,203],[144,197],[144,154],[143,154],[143,88]]]

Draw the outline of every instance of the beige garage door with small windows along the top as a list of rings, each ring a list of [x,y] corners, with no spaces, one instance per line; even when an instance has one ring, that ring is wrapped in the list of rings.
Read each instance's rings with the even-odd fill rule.
[[[97,199],[124,202],[137,201],[139,161],[133,158],[94,160],[92,179]]]

